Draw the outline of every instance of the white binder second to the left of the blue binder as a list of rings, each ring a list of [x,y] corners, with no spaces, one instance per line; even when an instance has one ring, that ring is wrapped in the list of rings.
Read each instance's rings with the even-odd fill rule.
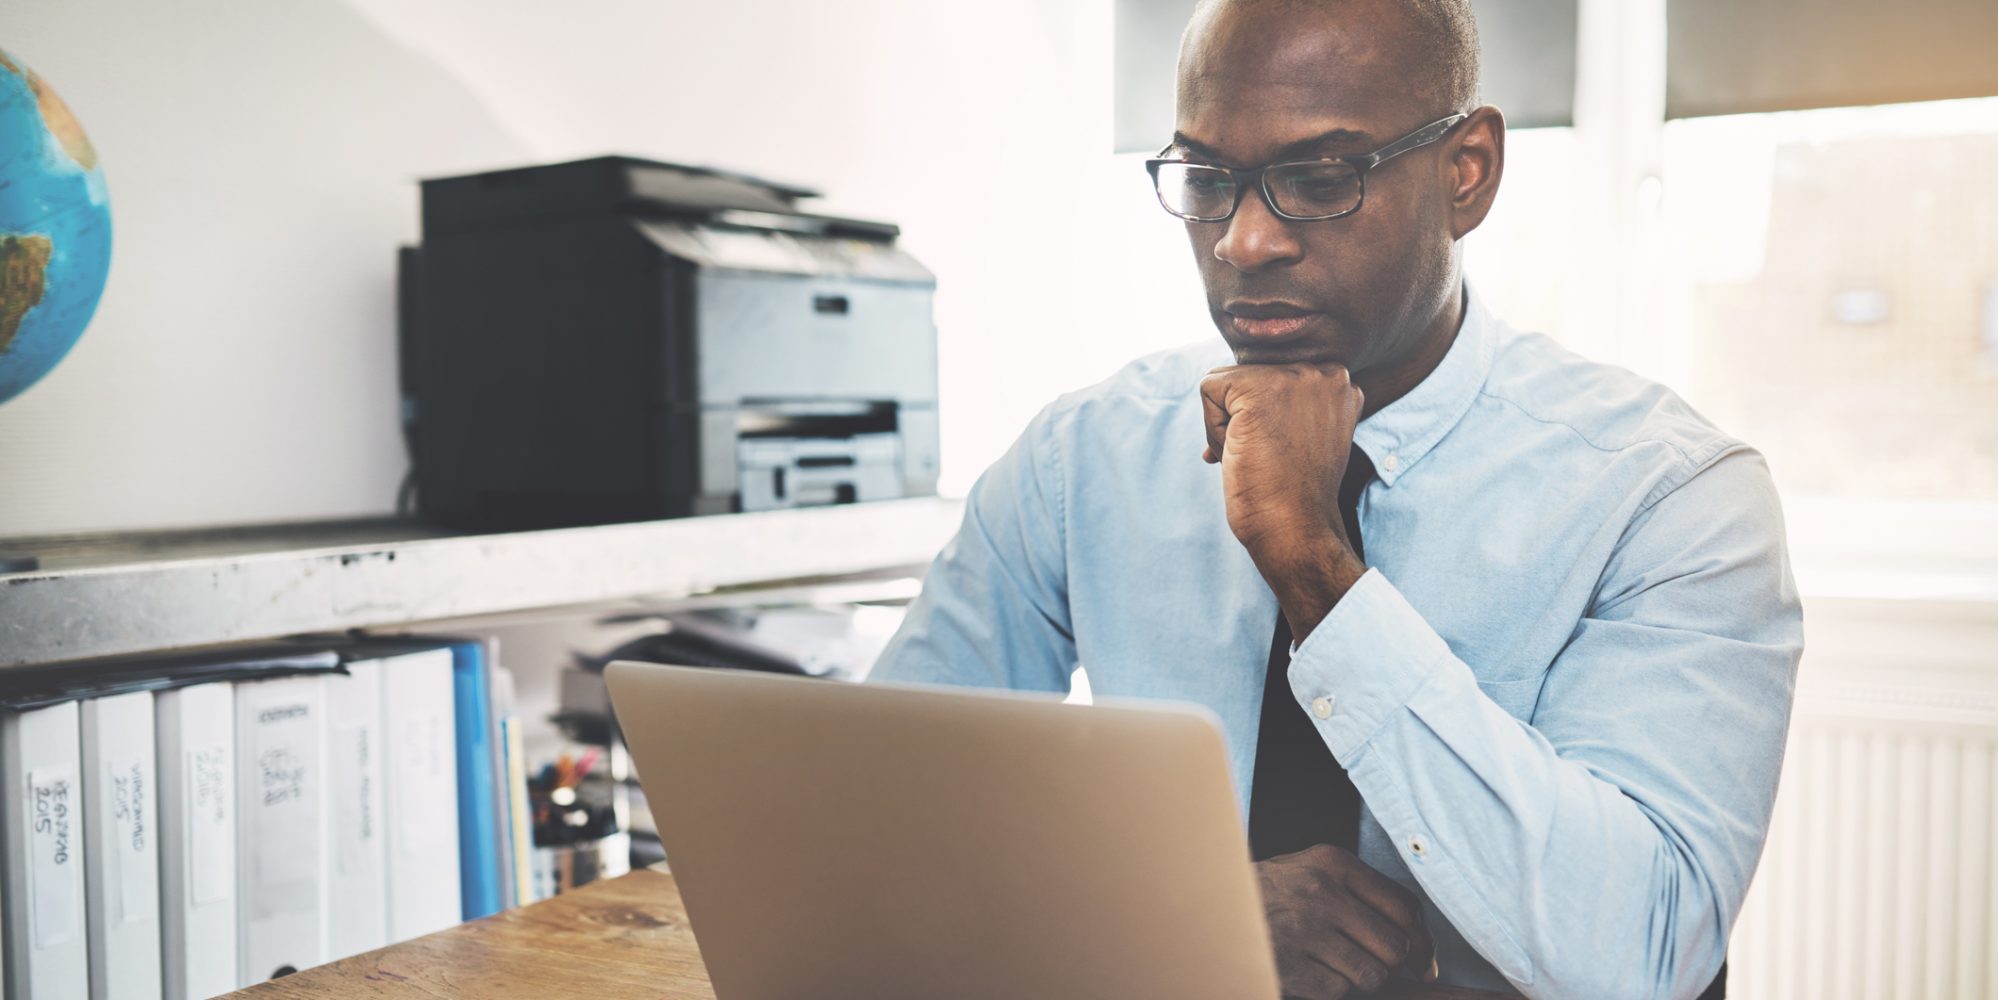
[[[388,944],[388,830],[382,814],[382,665],[348,665],[326,679],[328,952],[346,958]]]

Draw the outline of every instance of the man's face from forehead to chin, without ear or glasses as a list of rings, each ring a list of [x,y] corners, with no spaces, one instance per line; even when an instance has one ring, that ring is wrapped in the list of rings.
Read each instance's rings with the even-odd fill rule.
[[[1223,6],[1179,66],[1177,146],[1229,168],[1369,154],[1459,108],[1415,86],[1425,66],[1387,2],[1309,10]],[[1277,218],[1249,190],[1227,222],[1189,222],[1207,307],[1239,363],[1343,363],[1355,373],[1421,347],[1451,277],[1449,140],[1367,174],[1367,202],[1323,222]]]

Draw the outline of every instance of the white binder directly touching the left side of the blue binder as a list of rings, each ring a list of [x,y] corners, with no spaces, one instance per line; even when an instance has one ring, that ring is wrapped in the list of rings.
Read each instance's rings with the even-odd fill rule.
[[[382,661],[382,725],[390,739],[390,940],[410,940],[460,920],[454,699],[450,649]]]

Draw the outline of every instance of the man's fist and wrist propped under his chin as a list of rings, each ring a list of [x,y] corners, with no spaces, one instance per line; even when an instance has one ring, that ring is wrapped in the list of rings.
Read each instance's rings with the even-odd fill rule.
[[[1365,397],[1341,365],[1229,365],[1201,379],[1201,401],[1229,529],[1303,643],[1367,573],[1339,515]]]

